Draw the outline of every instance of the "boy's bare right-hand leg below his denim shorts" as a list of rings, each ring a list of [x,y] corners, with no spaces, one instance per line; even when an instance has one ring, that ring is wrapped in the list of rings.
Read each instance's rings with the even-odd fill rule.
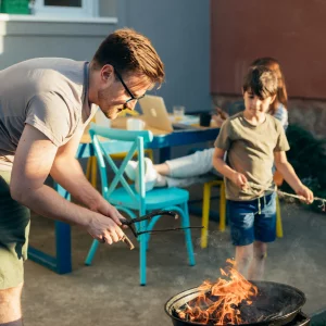
[[[260,280],[263,278],[266,254],[267,254],[267,243],[261,241],[254,241],[253,258],[248,272],[249,279]]]

